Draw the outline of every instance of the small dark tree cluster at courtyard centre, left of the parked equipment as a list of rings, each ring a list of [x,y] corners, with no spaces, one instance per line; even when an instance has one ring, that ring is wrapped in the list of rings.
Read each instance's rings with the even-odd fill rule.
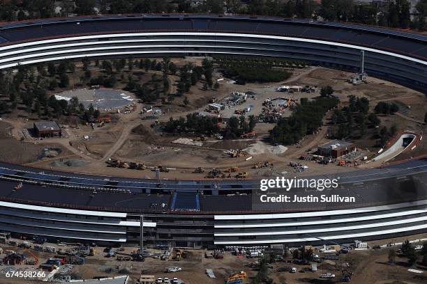
[[[220,131],[218,118],[211,116],[200,116],[198,113],[189,113],[186,118],[179,117],[176,120],[170,118],[163,125],[165,132],[197,132],[204,134],[215,134]]]

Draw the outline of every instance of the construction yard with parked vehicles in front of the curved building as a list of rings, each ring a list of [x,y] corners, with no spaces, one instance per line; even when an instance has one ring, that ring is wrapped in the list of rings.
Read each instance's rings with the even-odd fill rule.
[[[239,284],[256,278],[260,269],[267,269],[274,283],[313,283],[322,278],[329,278],[333,283],[364,283],[367,275],[370,275],[369,281],[375,283],[391,276],[396,281],[410,279],[412,283],[425,282],[424,276],[418,276],[400,264],[406,261],[402,255],[397,254],[393,267],[386,263],[389,249],[396,248],[398,251],[405,241],[399,238],[369,243],[355,241],[348,246],[227,246],[213,251],[168,246],[140,251],[133,247],[95,244],[48,244],[42,237],[23,241],[3,234],[2,238],[0,281],[4,283],[80,279],[112,283],[109,281],[114,279],[114,283],[123,284]],[[410,242],[417,248],[425,240],[426,235],[415,235]],[[292,256],[303,251],[309,251],[313,259],[307,261]],[[269,259],[267,263],[264,262],[265,258]],[[382,273],[376,273],[377,270]],[[27,280],[13,277],[15,274],[26,275]],[[372,278],[373,275],[375,278]]]

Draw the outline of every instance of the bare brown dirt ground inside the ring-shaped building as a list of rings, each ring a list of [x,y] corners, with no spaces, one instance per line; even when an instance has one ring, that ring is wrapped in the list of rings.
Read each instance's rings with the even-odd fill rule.
[[[194,58],[195,62],[200,61],[200,58]],[[177,64],[186,62],[187,59],[177,59]],[[98,71],[96,71],[98,72]],[[133,70],[133,72],[140,72]],[[292,70],[293,76],[280,84],[246,84],[245,86],[227,84],[227,79],[220,81],[219,90],[202,90],[202,84],[198,83],[190,89],[190,92],[186,94],[190,100],[190,104],[185,107],[180,100],[183,97],[177,98],[177,102],[170,105],[164,105],[161,107],[163,115],[158,118],[160,121],[166,121],[171,116],[177,118],[179,116],[186,116],[187,113],[191,113],[197,110],[203,110],[209,102],[209,99],[215,96],[218,100],[222,100],[223,97],[230,95],[234,90],[236,91],[248,91],[253,90],[257,95],[257,100],[248,99],[246,104],[253,104],[253,111],[249,114],[257,115],[260,113],[262,108],[262,102],[267,97],[283,97],[287,94],[278,93],[275,91],[277,86],[282,84],[287,85],[298,85],[298,86],[327,86],[331,85],[336,90],[336,94],[340,97],[342,102],[347,100],[347,95],[366,96],[370,100],[370,107],[375,107],[375,104],[380,101],[396,102],[400,106],[400,111],[394,116],[380,116],[383,125],[391,127],[391,125],[397,125],[398,129],[411,130],[417,133],[426,132],[426,126],[421,125],[419,122],[424,120],[424,113],[427,111],[426,96],[418,93],[414,90],[410,90],[403,86],[398,86],[386,81],[382,81],[375,78],[368,78],[368,84],[359,84],[353,86],[348,84],[346,79],[351,77],[352,74],[347,72],[341,72],[338,70],[329,70],[325,68],[304,68]],[[154,73],[160,72],[150,71],[148,74],[141,72],[140,81],[143,82],[147,77],[151,77]],[[217,78],[221,77],[221,74],[216,74]],[[173,92],[176,88],[177,77],[170,76],[170,92]],[[148,80],[148,79],[147,79]],[[147,81],[146,80],[146,81]],[[120,85],[121,83],[119,83]],[[320,89],[320,88],[319,88]],[[313,97],[309,94],[292,94],[296,98],[300,97]],[[314,94],[314,95],[319,95]],[[105,127],[95,127],[91,129],[90,126],[82,125],[79,129],[66,129],[68,137],[66,139],[44,139],[43,141],[37,141],[40,143],[38,148],[42,148],[44,145],[59,145],[63,152],[62,154],[53,159],[45,159],[37,161],[38,155],[34,154],[35,150],[20,150],[16,161],[22,163],[29,163],[32,161],[33,166],[39,166],[43,168],[52,168],[52,163],[57,159],[77,159],[85,161],[84,166],[77,166],[68,168],[67,166],[61,167],[61,170],[70,171],[83,171],[84,173],[94,173],[102,175],[119,175],[126,177],[147,177],[153,178],[154,173],[151,171],[136,171],[122,168],[107,168],[105,161],[114,157],[117,159],[123,159],[125,161],[137,161],[147,164],[149,166],[157,166],[162,164],[163,166],[177,168],[175,171],[170,173],[162,173],[163,178],[203,178],[204,175],[195,175],[192,173],[196,166],[203,168],[225,168],[227,166],[239,166],[244,171],[249,171],[251,176],[270,176],[270,175],[308,175],[308,174],[322,174],[329,173],[331,171],[353,171],[355,168],[340,167],[334,165],[320,165],[313,162],[305,162],[309,166],[308,170],[303,173],[294,173],[293,168],[287,166],[290,161],[296,161],[300,155],[304,154],[309,148],[316,148],[317,145],[328,141],[325,138],[327,134],[327,126],[322,127],[318,134],[306,136],[301,145],[290,145],[287,146],[288,150],[281,155],[274,155],[270,152],[266,152],[263,155],[253,155],[253,158],[246,161],[244,157],[241,158],[230,158],[225,155],[224,151],[229,149],[242,149],[248,147],[248,145],[255,143],[255,140],[244,139],[239,141],[218,141],[216,139],[209,139],[202,148],[197,146],[180,145],[171,143],[174,139],[179,136],[160,136],[156,133],[149,125],[153,123],[153,120],[141,120],[140,110],[142,105],[140,103],[135,104],[136,108],[131,113],[116,113],[112,114],[113,121],[107,124]],[[410,108],[407,108],[410,106]],[[155,106],[156,107],[156,106]],[[243,106],[244,107],[244,106]],[[233,112],[234,109],[226,109],[225,111]],[[288,113],[288,115],[290,112]],[[12,129],[8,129],[13,136],[18,137],[18,130],[24,126],[31,127],[25,123],[24,119],[4,119],[10,125]],[[325,120],[327,122],[327,120]],[[135,128],[136,127],[136,128]],[[255,127],[257,132],[257,141],[265,141],[268,143],[269,130],[274,127],[273,124],[258,123]],[[3,129],[6,127],[3,127]],[[83,137],[87,135],[91,139],[84,141]],[[196,136],[187,135],[188,138],[196,138]],[[370,137],[366,137],[366,141],[357,141],[359,147],[362,149],[366,148]],[[30,147],[34,145],[34,142],[21,143]],[[43,145],[43,146],[42,146]],[[372,145],[372,142],[371,142]],[[32,147],[32,146],[31,146]],[[398,159],[407,157],[415,157],[426,153],[426,143],[424,141],[420,143],[416,149],[410,152],[405,152]],[[369,148],[370,151],[376,152],[377,149]],[[38,150],[40,151],[40,150]],[[4,155],[8,155],[8,151],[4,151]],[[74,156],[73,156],[74,155]],[[5,160],[13,161],[10,155],[8,159],[5,156]],[[259,161],[269,160],[274,163],[274,168],[269,169],[251,169],[253,164]],[[57,166],[57,164],[54,164]]]

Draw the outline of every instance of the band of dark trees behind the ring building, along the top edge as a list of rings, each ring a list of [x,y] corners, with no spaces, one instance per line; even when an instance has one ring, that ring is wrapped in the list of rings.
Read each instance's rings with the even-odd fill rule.
[[[55,12],[52,0],[2,1],[0,18],[3,21],[68,16],[125,13],[232,13],[245,15],[271,15],[278,17],[316,18],[329,21],[357,22],[380,26],[414,28],[425,30],[427,0],[420,0],[415,6],[417,15],[411,22],[410,2],[390,1],[389,6],[375,3],[359,3],[353,0],[207,0],[195,3],[191,0],[75,0],[61,3],[60,13]]]

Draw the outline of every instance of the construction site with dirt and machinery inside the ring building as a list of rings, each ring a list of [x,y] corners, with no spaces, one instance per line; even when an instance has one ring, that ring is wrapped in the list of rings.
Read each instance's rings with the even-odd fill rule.
[[[205,104],[184,113],[174,113],[171,107],[165,109],[161,106],[132,102],[130,107],[126,105],[122,111],[105,107],[110,110],[101,111],[100,117],[91,123],[82,124],[77,120],[68,120],[66,123],[59,121],[61,137],[38,139],[31,134],[32,122],[8,120],[7,117],[3,118],[3,125],[6,127],[3,129],[8,129],[6,133],[16,139],[17,142],[14,143],[61,150],[56,157],[43,157],[40,160],[31,158],[33,152],[28,152],[29,158],[25,161],[41,168],[59,166],[62,171],[72,168],[71,171],[85,173],[144,178],[155,178],[158,169],[162,178],[192,179],[327,173],[352,171],[354,166],[371,166],[372,164],[368,163],[375,158],[380,148],[372,143],[369,145],[368,141],[363,139],[355,141],[354,151],[348,153],[344,159],[317,157],[321,156],[317,153],[317,146],[331,141],[328,139],[331,113],[324,118],[324,127],[305,136],[301,143],[271,143],[269,132],[278,119],[289,117],[292,109],[297,107],[301,100],[319,97],[321,86],[333,86],[333,95],[340,99],[340,105],[343,106],[347,104],[347,96],[350,94],[367,97],[371,107],[380,101],[396,102],[400,104],[400,110],[393,116],[380,117],[382,123],[386,126],[396,125],[402,131],[414,132],[417,135],[425,131],[421,120],[426,111],[423,103],[425,97],[421,93],[370,77],[364,77],[364,84],[350,84],[347,79],[352,74],[324,68],[299,68],[293,69],[292,72],[290,79],[274,86],[229,84],[227,80],[219,80],[222,78],[221,74],[216,73],[220,88],[214,92],[215,96],[209,97],[211,91],[203,93],[207,97]],[[173,90],[174,86],[170,88]],[[190,92],[193,93],[191,96],[197,97],[199,91]],[[115,99],[112,101],[115,102]],[[187,113],[199,113],[199,116],[218,119],[219,129],[224,130],[233,116],[253,116],[256,125],[252,132],[234,139],[225,139],[222,131],[211,136],[163,132],[161,125],[170,117],[179,118]],[[417,136],[418,139],[421,136]],[[421,143],[417,148],[405,151],[407,154],[404,152],[400,157],[421,155],[424,150],[425,146]],[[4,148],[4,151],[9,150]],[[27,154],[24,151],[20,152],[20,155]],[[42,157],[40,154],[37,156]],[[299,163],[304,167],[295,169],[290,166],[290,162],[299,159],[302,160]],[[313,160],[322,162],[315,164]],[[343,160],[347,162],[344,164]],[[265,164],[269,166],[264,166]]]

